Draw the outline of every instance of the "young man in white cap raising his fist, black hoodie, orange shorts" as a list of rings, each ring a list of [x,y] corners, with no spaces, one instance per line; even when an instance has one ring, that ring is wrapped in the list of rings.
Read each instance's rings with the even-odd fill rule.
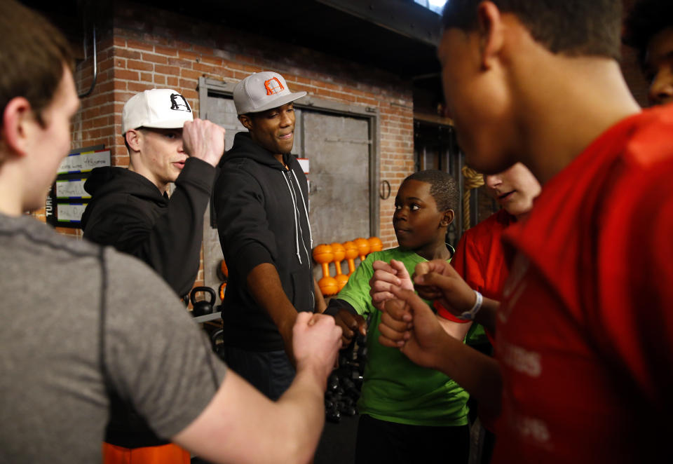
[[[91,172],[84,185],[91,194],[82,215],[84,238],[142,259],[182,296],[198,273],[203,213],[224,153],[224,129],[194,120],[189,103],[175,90],[153,89],[126,102],[121,130],[128,169]],[[175,191],[169,198],[170,182]],[[108,464],[125,456],[141,463],[189,463],[189,453],[158,438],[130,404],[114,397],[111,411]]]

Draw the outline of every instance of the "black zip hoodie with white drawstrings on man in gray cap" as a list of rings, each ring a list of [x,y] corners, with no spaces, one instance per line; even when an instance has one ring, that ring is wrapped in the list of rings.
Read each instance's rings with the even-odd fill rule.
[[[313,311],[308,183],[299,162],[271,151],[238,132],[219,162],[213,191],[217,231],[229,280],[224,294],[224,343],[248,350],[283,350],[271,317],[247,291],[255,266],[276,266],[287,298],[297,311]]]

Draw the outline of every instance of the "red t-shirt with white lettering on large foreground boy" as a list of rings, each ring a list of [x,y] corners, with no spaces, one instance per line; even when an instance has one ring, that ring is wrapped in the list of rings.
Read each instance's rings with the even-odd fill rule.
[[[673,105],[607,130],[504,238],[517,255],[498,312],[504,388],[494,462],[665,459]]]

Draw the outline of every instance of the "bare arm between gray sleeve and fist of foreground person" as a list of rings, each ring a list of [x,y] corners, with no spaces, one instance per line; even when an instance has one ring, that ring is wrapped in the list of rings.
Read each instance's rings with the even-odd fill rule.
[[[271,402],[229,371],[205,411],[172,441],[212,463],[308,463],[325,423],[325,379],[299,369]]]

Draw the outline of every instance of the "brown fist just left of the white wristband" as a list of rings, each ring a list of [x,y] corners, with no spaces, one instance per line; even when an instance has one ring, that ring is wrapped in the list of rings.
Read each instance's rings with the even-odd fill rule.
[[[427,300],[439,300],[454,315],[469,311],[475,303],[475,292],[454,266],[443,259],[416,264],[414,288]]]

